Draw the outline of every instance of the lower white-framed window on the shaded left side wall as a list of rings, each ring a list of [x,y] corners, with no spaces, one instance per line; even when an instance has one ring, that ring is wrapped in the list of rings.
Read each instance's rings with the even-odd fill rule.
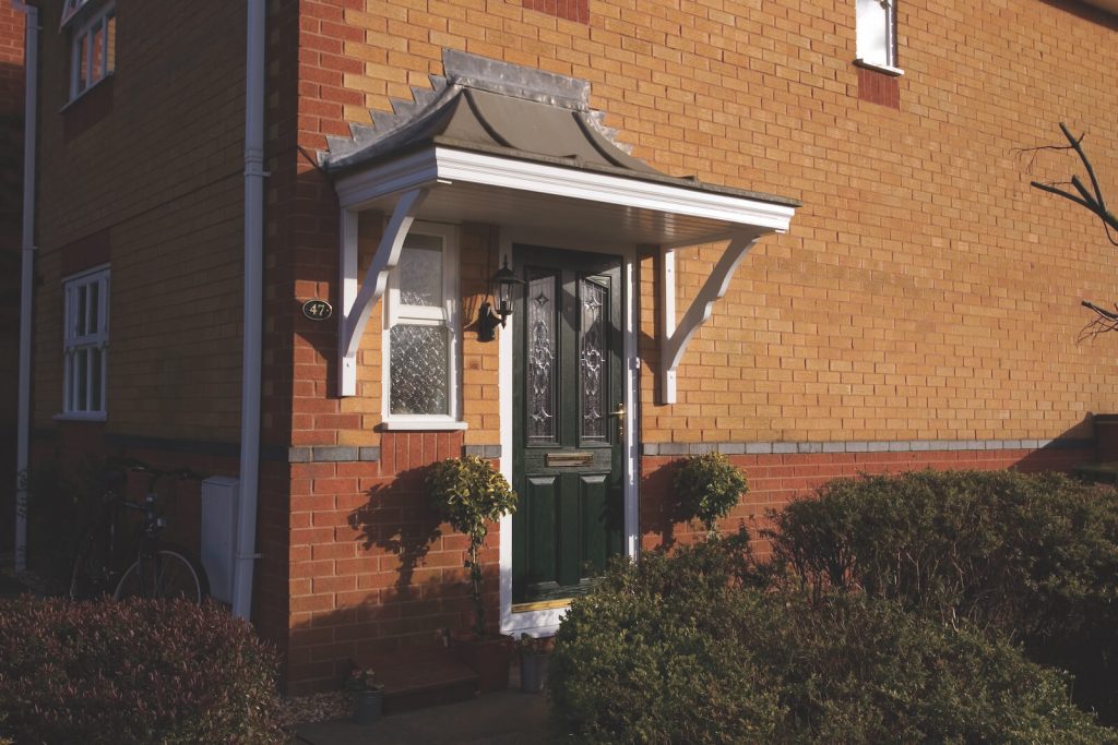
[[[66,331],[63,336],[63,414],[104,419],[108,367],[108,268],[63,284]]]

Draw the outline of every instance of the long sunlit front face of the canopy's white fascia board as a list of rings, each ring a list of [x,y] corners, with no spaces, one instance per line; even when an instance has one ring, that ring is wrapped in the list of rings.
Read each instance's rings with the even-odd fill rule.
[[[795,208],[773,202],[684,189],[638,178],[518,161],[485,153],[436,147],[438,178],[555,197],[617,204],[667,214],[722,220],[784,232]]]

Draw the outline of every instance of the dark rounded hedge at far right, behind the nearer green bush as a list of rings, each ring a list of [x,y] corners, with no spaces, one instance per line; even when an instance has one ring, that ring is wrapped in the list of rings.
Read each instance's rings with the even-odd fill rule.
[[[1060,475],[839,479],[775,514],[774,555],[814,595],[860,589],[1015,638],[1118,718],[1118,497]]]

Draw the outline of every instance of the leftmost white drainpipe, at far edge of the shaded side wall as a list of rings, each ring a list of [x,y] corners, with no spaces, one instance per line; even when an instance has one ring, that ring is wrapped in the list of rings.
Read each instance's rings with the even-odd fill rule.
[[[16,10],[27,13],[23,47],[23,226],[22,273],[19,288],[19,404],[16,432],[16,571],[27,569],[27,489],[23,475],[29,461],[31,438],[31,293],[35,288],[35,141],[36,103],[39,87],[39,9],[12,0]]]

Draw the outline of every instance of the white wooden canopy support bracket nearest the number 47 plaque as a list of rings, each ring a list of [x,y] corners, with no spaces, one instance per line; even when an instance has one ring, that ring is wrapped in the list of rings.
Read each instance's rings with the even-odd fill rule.
[[[416,218],[416,213],[427,198],[427,189],[413,189],[405,192],[396,202],[392,217],[380,237],[377,252],[373,254],[372,262],[366,271],[364,280],[361,283],[352,304],[342,303],[341,313],[338,318],[338,393],[339,395],[357,394],[357,353],[361,346],[361,334],[369,322],[369,313],[377,300],[385,294],[388,285],[388,275],[396,268],[400,260],[400,250],[404,248],[404,239],[408,235]],[[343,218],[344,219],[344,218]],[[352,220],[353,218],[350,218]],[[339,264],[341,270],[347,273],[342,277],[342,287],[349,287],[351,281],[357,281],[357,231],[351,230],[352,223],[344,222],[340,247]],[[348,299],[348,298],[347,298]]]

